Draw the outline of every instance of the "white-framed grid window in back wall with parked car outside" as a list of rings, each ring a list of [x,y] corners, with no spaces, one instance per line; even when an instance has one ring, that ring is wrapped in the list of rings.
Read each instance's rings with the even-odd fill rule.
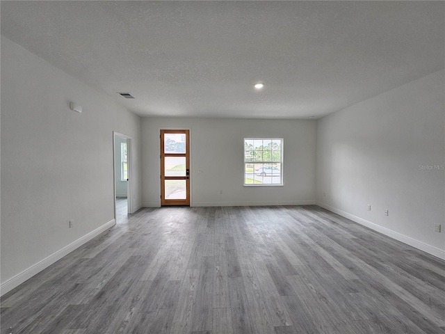
[[[244,138],[244,185],[283,185],[283,138]]]

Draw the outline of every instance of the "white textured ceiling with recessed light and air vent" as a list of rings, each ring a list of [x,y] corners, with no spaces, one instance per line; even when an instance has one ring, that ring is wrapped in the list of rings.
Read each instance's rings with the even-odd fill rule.
[[[442,69],[444,13],[442,1],[1,1],[1,33],[140,116],[318,118]]]

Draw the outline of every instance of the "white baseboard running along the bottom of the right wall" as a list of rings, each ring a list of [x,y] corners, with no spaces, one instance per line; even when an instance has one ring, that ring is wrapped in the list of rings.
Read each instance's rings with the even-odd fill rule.
[[[371,230],[375,230],[382,234],[385,234],[387,237],[391,237],[392,239],[396,239],[397,241],[403,242],[403,244],[407,244],[419,250],[423,250],[424,252],[434,255],[435,257],[439,257],[439,259],[445,260],[445,250],[430,246],[428,244],[424,244],[423,242],[412,239],[411,237],[407,237],[401,233],[395,232],[393,230],[389,230],[389,228],[384,228],[383,226],[372,223],[371,221],[366,221],[366,219],[354,216],[353,214],[348,214],[348,212],[344,212],[335,207],[331,207],[330,205],[326,205],[322,202],[316,202],[316,205],[319,207],[324,207],[330,212],[334,212],[335,214],[339,214],[345,218],[350,219],[351,221],[355,221],[355,223],[359,223],[360,225],[366,226],[366,228],[371,228]]]

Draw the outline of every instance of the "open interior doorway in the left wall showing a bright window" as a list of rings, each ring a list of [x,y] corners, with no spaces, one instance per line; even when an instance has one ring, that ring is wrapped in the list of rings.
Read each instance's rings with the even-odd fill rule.
[[[113,132],[116,222],[131,214],[131,136]]]

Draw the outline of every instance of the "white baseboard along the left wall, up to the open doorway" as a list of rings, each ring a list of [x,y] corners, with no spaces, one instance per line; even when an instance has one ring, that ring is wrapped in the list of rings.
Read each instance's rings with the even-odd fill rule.
[[[115,223],[116,223],[115,219],[114,218],[111,219],[111,221],[108,221],[108,223],[105,223],[104,225],[99,226],[99,228],[92,230],[88,234],[85,234],[83,237],[77,239],[76,241],[73,241],[71,244],[57,250],[56,253],[53,253],[53,254],[49,255],[48,257],[45,257],[43,260],[37,262],[36,264],[33,264],[33,266],[29,267],[28,269],[25,269],[21,273],[18,273],[13,278],[10,278],[9,280],[7,280],[5,283],[1,283],[0,296],[3,296],[3,294],[10,292],[10,290],[14,289],[15,287],[18,287],[19,285],[24,283],[26,280],[29,280],[29,278],[40,273],[40,271],[49,267],[51,264],[57,262],[62,257],[71,253],[76,248],[79,248],[83,244],[86,244],[86,242],[90,241],[94,237],[97,237],[97,235],[106,231],[108,228],[111,228],[113,225],[115,225]]]

